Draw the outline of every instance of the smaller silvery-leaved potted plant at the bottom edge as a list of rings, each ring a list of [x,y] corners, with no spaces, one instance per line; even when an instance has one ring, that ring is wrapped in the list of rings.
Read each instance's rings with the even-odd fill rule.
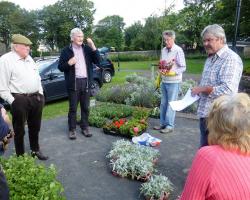
[[[173,184],[166,176],[153,175],[148,182],[142,184],[140,191],[147,200],[168,200]]]

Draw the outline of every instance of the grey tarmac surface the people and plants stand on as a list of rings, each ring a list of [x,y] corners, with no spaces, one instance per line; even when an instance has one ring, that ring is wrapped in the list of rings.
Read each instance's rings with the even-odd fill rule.
[[[177,199],[183,189],[188,169],[199,145],[198,121],[193,115],[177,113],[174,132],[161,134],[152,130],[158,119],[149,119],[146,132],[162,139],[158,148],[160,159],[155,174],[167,176],[174,184],[170,199]],[[93,137],[86,138],[77,129],[77,139],[67,136],[67,117],[44,120],[40,132],[40,146],[50,159],[43,162],[54,164],[58,180],[65,189],[67,200],[136,200],[140,196],[141,182],[120,178],[111,174],[106,158],[112,142],[121,137],[106,135],[102,129],[91,127]],[[29,152],[28,134],[26,150]],[[14,153],[13,142],[6,156]]]

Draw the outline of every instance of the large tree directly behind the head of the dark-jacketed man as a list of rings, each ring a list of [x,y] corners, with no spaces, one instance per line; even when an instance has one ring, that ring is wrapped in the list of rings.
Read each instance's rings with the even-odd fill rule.
[[[64,0],[40,12],[43,36],[52,49],[69,43],[70,30],[78,27],[85,35],[92,31],[94,4],[88,0]]]

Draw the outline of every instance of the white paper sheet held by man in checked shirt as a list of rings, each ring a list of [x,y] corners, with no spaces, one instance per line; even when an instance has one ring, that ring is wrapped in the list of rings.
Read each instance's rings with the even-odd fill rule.
[[[196,102],[199,98],[200,97],[198,95],[192,96],[191,89],[189,88],[183,99],[178,101],[171,101],[169,102],[169,105],[173,110],[181,111]]]

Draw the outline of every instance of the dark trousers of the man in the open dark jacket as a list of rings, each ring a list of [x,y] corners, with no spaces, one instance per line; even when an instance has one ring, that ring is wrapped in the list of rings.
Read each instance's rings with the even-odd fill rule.
[[[80,102],[81,107],[81,121],[80,127],[82,130],[87,129],[89,126],[89,90],[87,78],[76,79],[76,91],[69,91],[69,113],[68,113],[68,125],[69,130],[76,129],[76,115],[77,107]]]

